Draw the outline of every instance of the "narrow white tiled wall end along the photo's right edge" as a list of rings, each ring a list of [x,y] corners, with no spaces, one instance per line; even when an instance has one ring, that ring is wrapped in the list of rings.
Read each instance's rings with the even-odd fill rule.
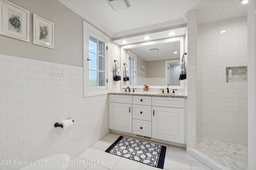
[[[248,169],[256,169],[256,1],[248,1]]]

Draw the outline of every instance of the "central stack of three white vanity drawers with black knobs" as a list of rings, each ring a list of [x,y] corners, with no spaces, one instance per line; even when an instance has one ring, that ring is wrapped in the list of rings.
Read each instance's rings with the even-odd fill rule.
[[[151,96],[132,96],[132,133],[151,137]]]

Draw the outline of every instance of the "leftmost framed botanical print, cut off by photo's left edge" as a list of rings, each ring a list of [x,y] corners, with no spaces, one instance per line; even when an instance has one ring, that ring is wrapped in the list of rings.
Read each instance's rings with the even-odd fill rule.
[[[0,35],[29,42],[29,11],[7,0],[0,0],[0,8]]]

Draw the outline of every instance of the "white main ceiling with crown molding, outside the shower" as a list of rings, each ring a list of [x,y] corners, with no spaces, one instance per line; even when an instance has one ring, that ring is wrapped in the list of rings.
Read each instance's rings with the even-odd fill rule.
[[[114,11],[107,0],[59,0],[110,37],[186,23],[184,14],[201,0],[129,0],[131,7]]]

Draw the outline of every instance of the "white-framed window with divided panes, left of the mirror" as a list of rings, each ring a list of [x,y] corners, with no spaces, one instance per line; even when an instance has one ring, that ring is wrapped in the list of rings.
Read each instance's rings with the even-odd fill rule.
[[[84,22],[84,97],[107,94],[109,37]]]

